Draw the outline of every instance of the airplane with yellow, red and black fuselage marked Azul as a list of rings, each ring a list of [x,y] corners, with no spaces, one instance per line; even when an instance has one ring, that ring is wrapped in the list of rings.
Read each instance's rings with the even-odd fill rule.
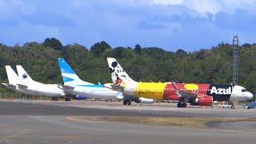
[[[114,84],[106,84],[106,87],[122,90],[125,95],[123,105],[130,105],[131,101],[153,103],[154,100],[173,100],[178,101],[178,107],[186,107],[187,103],[212,106],[214,101],[230,102],[234,99],[248,100],[253,98],[252,93],[238,85],[135,82],[115,58],[107,58],[107,62]]]

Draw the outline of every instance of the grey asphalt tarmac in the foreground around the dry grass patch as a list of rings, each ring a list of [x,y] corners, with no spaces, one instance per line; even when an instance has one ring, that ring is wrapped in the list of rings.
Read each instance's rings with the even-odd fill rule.
[[[254,143],[255,122],[219,122],[210,129],[179,126],[149,126],[118,122],[78,122],[70,117],[81,116],[162,116],[177,117],[193,114],[255,118],[255,110],[176,109],[121,110],[82,107],[71,103],[0,102],[0,143]],[[210,110],[210,112],[209,112]],[[249,114],[245,114],[249,113]],[[192,114],[192,115],[193,115]],[[197,116],[198,116],[197,115]]]

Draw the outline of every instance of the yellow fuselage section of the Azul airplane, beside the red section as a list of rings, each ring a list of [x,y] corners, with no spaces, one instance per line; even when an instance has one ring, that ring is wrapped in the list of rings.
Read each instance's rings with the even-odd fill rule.
[[[135,97],[152,98],[154,100],[163,99],[166,83],[157,82],[138,82],[134,95]]]

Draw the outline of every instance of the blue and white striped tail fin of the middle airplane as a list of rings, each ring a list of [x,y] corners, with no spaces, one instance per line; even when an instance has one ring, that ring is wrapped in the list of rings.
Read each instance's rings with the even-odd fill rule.
[[[93,85],[90,82],[82,81],[74,70],[66,63],[64,58],[58,58],[58,66],[62,72],[62,79],[65,86]]]

